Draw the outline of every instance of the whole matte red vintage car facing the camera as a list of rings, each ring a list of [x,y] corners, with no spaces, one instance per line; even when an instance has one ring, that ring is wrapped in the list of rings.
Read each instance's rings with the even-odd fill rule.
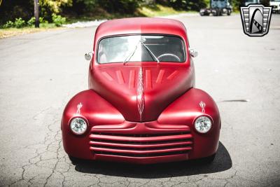
[[[186,27],[177,20],[125,18],[97,27],[89,90],[64,109],[62,140],[71,160],[149,164],[204,158],[218,148],[221,118],[195,88]]]

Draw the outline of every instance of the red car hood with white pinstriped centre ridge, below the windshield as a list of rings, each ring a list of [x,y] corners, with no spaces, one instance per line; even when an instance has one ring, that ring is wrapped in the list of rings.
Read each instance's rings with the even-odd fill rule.
[[[157,120],[176,98],[193,87],[190,66],[125,65],[90,69],[89,87],[129,121]]]

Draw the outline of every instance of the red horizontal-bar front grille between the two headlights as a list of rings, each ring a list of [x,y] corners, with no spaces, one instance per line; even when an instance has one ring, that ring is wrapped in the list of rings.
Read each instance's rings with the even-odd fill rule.
[[[115,134],[92,132],[90,150],[100,155],[154,157],[186,154],[193,148],[190,132]]]

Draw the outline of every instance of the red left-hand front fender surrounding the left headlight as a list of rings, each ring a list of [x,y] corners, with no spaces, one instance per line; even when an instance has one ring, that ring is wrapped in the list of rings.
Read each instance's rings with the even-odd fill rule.
[[[87,119],[87,131],[77,135],[71,132],[69,123],[74,117]],[[66,105],[62,116],[62,141],[66,153],[73,157],[93,159],[88,138],[94,125],[115,125],[124,122],[123,115],[109,102],[93,90],[85,90],[75,95]]]

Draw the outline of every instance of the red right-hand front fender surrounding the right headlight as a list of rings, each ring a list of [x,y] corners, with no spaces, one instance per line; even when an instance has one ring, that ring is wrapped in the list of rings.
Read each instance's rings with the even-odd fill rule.
[[[205,103],[204,110],[200,102]],[[209,132],[202,134],[195,130],[195,120],[199,116],[208,116],[212,119]],[[216,153],[221,129],[221,117],[218,107],[207,92],[191,88],[184,95],[176,99],[162,111],[158,118],[161,124],[188,125],[193,134],[193,151],[189,158],[203,158]]]

